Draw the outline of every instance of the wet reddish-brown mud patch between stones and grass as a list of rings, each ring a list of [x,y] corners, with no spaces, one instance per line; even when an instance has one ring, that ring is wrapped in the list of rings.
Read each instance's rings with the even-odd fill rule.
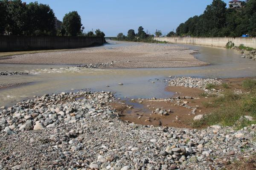
[[[222,82],[228,83],[230,89],[241,89],[241,83],[244,79],[247,78],[232,78],[232,79],[222,79]],[[219,86],[218,89],[224,89]],[[177,96],[192,96],[194,99],[180,99],[182,102],[188,102],[188,106],[192,108],[197,107],[195,114],[192,114],[192,109],[184,108],[182,106],[175,105],[175,102],[164,101],[163,99],[137,99],[132,102],[131,105],[134,105],[134,108],[127,108],[127,104],[124,104],[125,101],[116,102],[113,105],[117,111],[120,111],[120,119],[123,121],[134,122],[140,125],[154,125],[154,126],[168,126],[168,127],[186,127],[192,128],[192,119],[198,114],[207,114],[212,111],[212,108],[206,108],[203,105],[203,102],[209,102],[213,97],[212,96],[201,96],[202,93],[205,93],[203,90],[198,88],[185,88],[183,86],[168,86],[165,89],[166,91],[175,92]],[[140,103],[142,102],[142,103]],[[168,115],[154,114],[152,111],[155,111],[157,108],[164,110],[171,110]],[[177,119],[176,119],[177,118]]]

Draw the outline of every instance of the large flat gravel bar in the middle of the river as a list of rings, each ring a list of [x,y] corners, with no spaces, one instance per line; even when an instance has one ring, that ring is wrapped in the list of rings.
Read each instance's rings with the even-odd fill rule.
[[[177,45],[140,43],[128,46],[82,48],[70,51],[41,52],[1,57],[0,63],[19,64],[97,64],[103,68],[171,68],[203,66],[192,54],[197,51]]]

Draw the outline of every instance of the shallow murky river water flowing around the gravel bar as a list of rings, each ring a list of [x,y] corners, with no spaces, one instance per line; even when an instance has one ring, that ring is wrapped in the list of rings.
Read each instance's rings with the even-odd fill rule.
[[[108,48],[137,43],[111,42]],[[173,45],[173,44],[169,44]],[[77,91],[90,88],[96,91],[113,91],[117,97],[163,98],[171,96],[164,91],[164,79],[169,76],[191,76],[203,78],[255,77],[256,61],[241,58],[235,50],[198,45],[180,45],[199,50],[199,60],[210,65],[186,68],[138,68],[138,69],[88,69],[72,65],[23,65],[0,64],[1,71],[30,71],[34,74],[1,76],[0,84],[30,82],[15,88],[0,90],[0,106],[11,105],[34,95]],[[99,47],[101,48],[101,47]],[[69,68],[68,68],[69,67]],[[159,80],[157,80],[159,79]],[[155,83],[151,83],[154,81]],[[118,83],[123,85],[118,85]],[[106,86],[110,87],[106,87]],[[71,90],[72,89],[72,90]],[[74,90],[73,90],[74,89]]]

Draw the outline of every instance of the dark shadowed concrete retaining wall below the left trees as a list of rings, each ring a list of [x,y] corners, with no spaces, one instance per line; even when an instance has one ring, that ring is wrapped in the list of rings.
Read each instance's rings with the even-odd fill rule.
[[[81,48],[102,45],[103,37],[0,36],[0,51]]]

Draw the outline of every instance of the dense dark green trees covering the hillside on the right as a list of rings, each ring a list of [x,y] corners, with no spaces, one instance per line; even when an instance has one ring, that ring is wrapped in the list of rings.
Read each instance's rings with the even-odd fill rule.
[[[241,8],[226,8],[222,0],[213,0],[203,14],[181,23],[176,33],[193,37],[256,37],[256,0],[242,4]]]

